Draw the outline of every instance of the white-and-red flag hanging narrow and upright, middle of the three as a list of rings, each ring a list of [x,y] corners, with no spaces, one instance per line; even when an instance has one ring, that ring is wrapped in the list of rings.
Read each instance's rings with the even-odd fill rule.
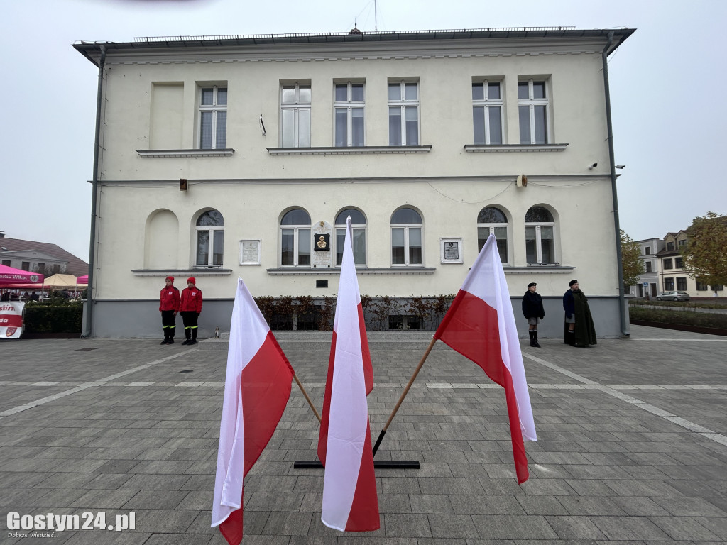
[[[380,525],[366,403],[366,395],[374,387],[374,371],[351,233],[349,217],[318,436],[318,458],[326,468],[321,520],[336,530],[368,532]]]

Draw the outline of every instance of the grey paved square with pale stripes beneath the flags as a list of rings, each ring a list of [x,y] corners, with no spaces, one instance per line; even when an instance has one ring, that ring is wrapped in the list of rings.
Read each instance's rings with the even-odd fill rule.
[[[375,441],[430,334],[371,334]],[[330,334],[278,334],[320,410]],[[244,544],[725,543],[727,339],[632,326],[577,349],[523,343],[539,441],[518,486],[505,395],[438,343],[377,460],[381,528],[321,523],[318,421],[293,385],[246,479]],[[209,528],[226,352],[149,340],[0,343],[2,544],[225,544]],[[12,537],[7,514],[135,513],[136,528]],[[39,531],[39,530],[36,530]]]

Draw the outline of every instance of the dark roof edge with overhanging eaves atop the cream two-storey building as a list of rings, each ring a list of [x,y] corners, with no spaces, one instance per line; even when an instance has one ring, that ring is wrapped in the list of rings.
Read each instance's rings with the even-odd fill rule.
[[[294,34],[227,34],[224,36],[157,36],[135,38],[134,41],[79,41],[73,44],[81,55],[98,65],[101,47],[106,51],[117,52],[150,52],[159,49],[191,49],[191,48],[229,48],[258,47],[296,44],[356,44],[362,42],[389,43],[414,41],[530,41],[559,39],[603,41],[604,46],[609,34],[613,37],[606,55],[623,43],[635,32],[635,28],[613,29],[576,29],[574,27],[515,27],[515,28],[475,28],[462,30],[435,31],[394,31],[394,32],[341,32],[341,33],[294,33]]]

